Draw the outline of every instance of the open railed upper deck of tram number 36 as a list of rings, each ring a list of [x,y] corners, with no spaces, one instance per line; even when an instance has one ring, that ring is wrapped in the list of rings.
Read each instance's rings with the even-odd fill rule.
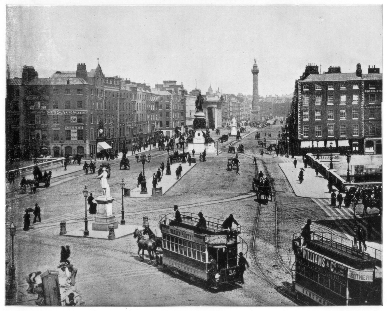
[[[196,226],[199,223],[199,218],[196,214],[190,212],[180,212],[182,221],[175,221],[175,213],[160,215],[160,223],[168,226],[182,227],[190,230],[197,231],[197,233],[204,233],[207,235],[224,235],[222,229],[223,220],[204,216],[207,224],[207,228],[199,228]],[[195,215],[195,216],[194,216]],[[241,233],[241,226],[233,224],[232,231],[239,235]]]

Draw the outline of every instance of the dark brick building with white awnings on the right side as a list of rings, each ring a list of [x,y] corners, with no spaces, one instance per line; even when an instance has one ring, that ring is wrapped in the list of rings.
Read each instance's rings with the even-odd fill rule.
[[[381,106],[382,74],[375,66],[366,74],[360,64],[354,73],[330,66],[319,74],[319,67],[309,64],[293,94],[295,147],[300,152],[332,143],[336,152],[380,154]]]

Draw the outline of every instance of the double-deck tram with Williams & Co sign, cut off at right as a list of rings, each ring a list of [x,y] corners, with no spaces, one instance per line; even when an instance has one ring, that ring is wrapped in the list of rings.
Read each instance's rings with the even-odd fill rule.
[[[313,233],[305,246],[302,242],[299,234],[293,235],[298,299],[325,306],[382,304],[381,251],[367,246],[372,257],[331,233]]]

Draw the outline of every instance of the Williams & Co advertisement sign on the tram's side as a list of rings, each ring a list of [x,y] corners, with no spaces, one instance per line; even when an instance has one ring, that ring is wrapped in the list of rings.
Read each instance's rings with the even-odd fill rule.
[[[339,262],[312,252],[307,248],[298,248],[298,250],[300,252],[298,255],[302,256],[305,264],[308,266],[310,266],[308,263],[312,263],[314,269],[330,277],[337,275],[344,278],[347,277],[348,269]]]

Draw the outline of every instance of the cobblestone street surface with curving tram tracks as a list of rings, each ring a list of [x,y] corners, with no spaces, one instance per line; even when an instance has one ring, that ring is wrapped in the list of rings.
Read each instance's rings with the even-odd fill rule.
[[[302,192],[303,189],[292,188],[286,173],[284,174],[284,165],[292,165],[293,159],[259,155],[260,148],[256,145],[255,133],[258,131],[263,137],[267,132],[275,137],[280,127],[247,127],[247,133],[243,134],[241,141],[233,142],[229,139],[228,142],[219,144],[219,155],[207,155],[206,162],[196,163],[189,171],[188,163],[184,165],[185,174],[176,182],[163,178],[159,186],[165,187],[166,190],[160,197],[124,197],[126,225],[132,228],[142,229],[143,216],[148,216],[151,228],[156,229],[159,216],[173,212],[175,204],[182,212],[197,214],[201,211],[204,216],[219,219],[225,219],[232,213],[242,226],[241,238],[248,246],[247,260],[250,268],[245,272],[245,284],[211,292],[201,282],[190,283],[188,280],[174,277],[167,269],[156,266],[155,263],[150,265],[147,254],[144,262],[140,261],[133,235],[113,241],[60,236],[62,220],[67,223],[67,231],[84,226],[84,185],[94,197],[101,194],[97,174],[85,175],[82,170],[74,169],[67,175],[53,175],[51,186],[39,188],[36,194],[20,194],[19,190],[15,191],[7,186],[6,223],[12,221],[17,226],[15,267],[18,290],[22,293],[21,300],[15,304],[34,305],[36,296],[27,294],[26,276],[38,270],[60,271],[57,269],[60,246],[70,245],[69,260],[78,269],[74,290],[86,306],[296,305],[291,297],[287,296],[291,291],[292,277],[285,269],[289,269],[294,262],[291,252],[293,233],[300,232],[306,220],[311,218],[313,231],[351,236],[353,210],[330,207],[329,199],[325,196],[301,197],[297,192]],[[226,133],[227,129],[222,128],[220,135]],[[216,140],[219,136],[211,131],[211,137]],[[275,139],[267,141],[275,143]],[[238,154],[240,175],[236,175],[235,170],[227,170],[227,159],[235,156],[227,153],[227,147],[229,144],[238,146],[240,143],[245,146],[245,154]],[[179,152],[182,152],[182,149],[179,148]],[[167,153],[158,149],[146,153],[152,155],[151,162],[145,163],[149,192],[153,172],[156,172],[162,161],[166,164]],[[262,170],[265,177],[271,179],[274,190],[273,201],[261,205],[260,208],[255,192],[251,191],[252,179],[256,177],[255,166],[252,164],[253,156],[258,160],[258,170]],[[108,180],[111,195],[115,198],[113,212],[118,221],[122,207],[119,183],[124,179],[125,187],[137,188],[137,177],[142,171],[142,165],[136,163],[134,156],[130,155],[130,170],[119,170],[119,160],[120,158],[111,161],[111,178]],[[171,171],[173,176],[174,172]],[[15,183],[18,184],[19,180],[15,180]],[[326,182],[324,184],[325,190]],[[312,182],[308,188],[308,191],[314,189]],[[24,210],[34,207],[36,202],[41,207],[42,221],[33,224],[31,218],[30,230],[23,231]],[[376,214],[363,218],[360,216],[361,211],[362,206],[357,206],[356,218],[363,226],[375,220]],[[33,217],[32,214],[31,216]],[[93,215],[88,214],[89,229],[93,218]],[[156,233],[160,236],[159,232]],[[381,249],[380,228],[375,227],[372,238],[370,245]],[[242,245],[242,251],[245,252],[246,245]],[[6,250],[6,259],[10,260],[9,235]],[[269,281],[264,279],[261,271]],[[64,273],[60,271],[60,275],[60,284],[65,286],[62,284],[65,282]]]

